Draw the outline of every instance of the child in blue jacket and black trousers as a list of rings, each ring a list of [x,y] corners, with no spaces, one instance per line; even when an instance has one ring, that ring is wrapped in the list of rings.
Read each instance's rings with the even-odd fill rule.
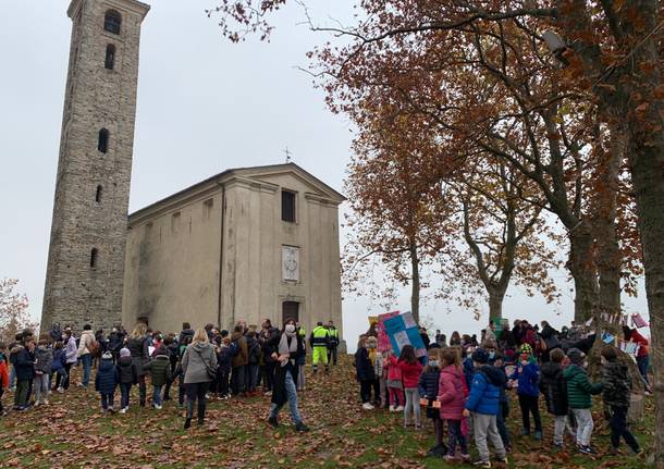
[[[521,421],[524,423],[522,434],[530,434],[530,414],[534,420],[534,439],[542,440],[542,421],[540,419],[540,367],[532,356],[532,347],[528,344],[521,345],[521,355],[514,374],[509,377],[516,381],[519,407],[521,408]]]

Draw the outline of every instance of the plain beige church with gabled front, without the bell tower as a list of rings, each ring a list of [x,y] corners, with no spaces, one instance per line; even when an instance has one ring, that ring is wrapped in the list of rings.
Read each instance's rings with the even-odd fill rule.
[[[341,330],[343,196],[294,163],[229,170],[128,219],[123,323]]]

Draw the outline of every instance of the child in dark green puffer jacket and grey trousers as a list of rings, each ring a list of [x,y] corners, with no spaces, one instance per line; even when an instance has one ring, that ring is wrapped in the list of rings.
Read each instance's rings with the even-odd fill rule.
[[[577,422],[577,447],[583,454],[595,454],[590,446],[590,437],[594,423],[592,421],[592,394],[600,394],[603,390],[602,383],[591,383],[588,379],[586,367],[586,354],[578,348],[567,350],[569,366],[563,372],[567,381],[567,402]]]

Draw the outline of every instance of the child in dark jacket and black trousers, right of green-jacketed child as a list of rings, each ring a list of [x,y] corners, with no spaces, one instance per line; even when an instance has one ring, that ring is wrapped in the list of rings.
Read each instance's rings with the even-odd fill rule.
[[[611,408],[611,452],[618,454],[620,436],[635,454],[641,453],[637,439],[627,428],[627,410],[631,394],[631,380],[627,366],[618,361],[617,349],[613,345],[602,347],[602,398],[604,405]]]

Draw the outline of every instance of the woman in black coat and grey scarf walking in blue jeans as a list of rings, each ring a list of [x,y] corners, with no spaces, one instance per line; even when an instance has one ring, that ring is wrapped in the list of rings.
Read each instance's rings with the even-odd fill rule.
[[[304,354],[305,344],[302,336],[295,330],[295,321],[288,320],[281,334],[274,335],[268,341],[268,346],[273,350],[271,358],[275,362],[274,382],[272,387],[272,404],[270,405],[270,417],[268,422],[272,427],[279,427],[279,410],[284,404],[291,407],[291,417],[298,432],[308,431],[308,427],[302,420],[297,408],[297,358]]]

